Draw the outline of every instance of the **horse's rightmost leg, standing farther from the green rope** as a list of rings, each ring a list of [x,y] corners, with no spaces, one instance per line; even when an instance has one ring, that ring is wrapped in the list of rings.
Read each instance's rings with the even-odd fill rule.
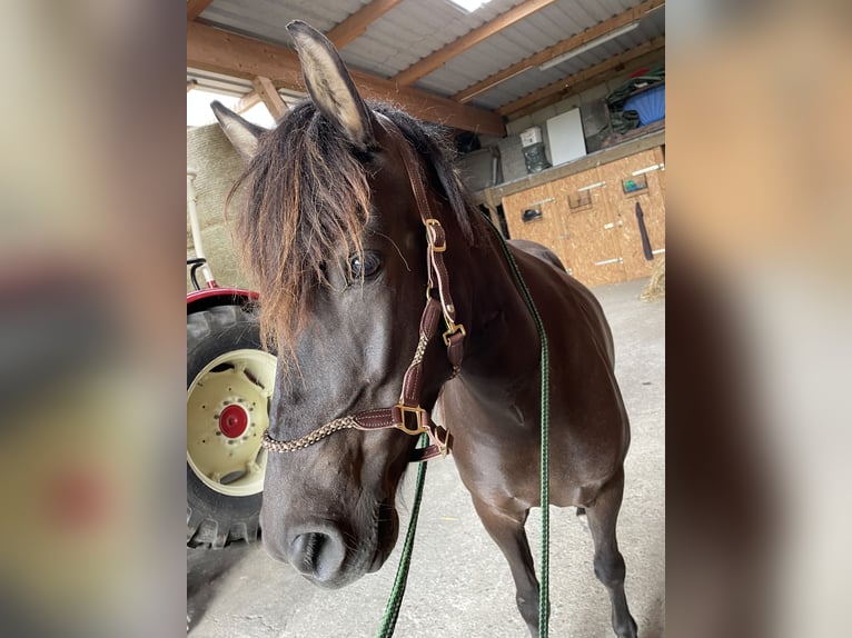
[[[595,544],[595,576],[610,592],[613,629],[618,638],[636,638],[636,621],[631,616],[624,594],[624,557],[615,538],[623,491],[624,470],[621,469],[586,511]]]

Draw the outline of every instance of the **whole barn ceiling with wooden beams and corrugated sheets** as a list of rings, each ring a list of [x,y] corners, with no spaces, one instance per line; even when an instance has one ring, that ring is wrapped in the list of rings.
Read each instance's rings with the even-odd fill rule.
[[[337,46],[366,96],[503,134],[505,119],[662,50],[663,8],[664,0],[492,0],[470,12],[450,0],[188,0],[188,90],[245,92],[247,106],[264,98],[264,86],[285,100],[299,94],[284,28],[299,19]]]

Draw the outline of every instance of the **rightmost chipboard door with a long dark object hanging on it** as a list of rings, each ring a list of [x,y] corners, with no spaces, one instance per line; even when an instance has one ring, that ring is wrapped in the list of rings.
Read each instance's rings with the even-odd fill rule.
[[[663,170],[660,149],[642,151],[598,168],[601,178],[606,181],[606,202],[618,230],[616,237],[626,279],[648,277],[656,266],[656,256],[665,252]],[[643,250],[637,203],[654,259],[647,259]]]

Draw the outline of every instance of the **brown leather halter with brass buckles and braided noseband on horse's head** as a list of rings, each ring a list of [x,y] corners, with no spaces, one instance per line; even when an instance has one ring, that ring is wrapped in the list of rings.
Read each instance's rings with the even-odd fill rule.
[[[447,250],[447,238],[440,221],[432,215],[429,200],[426,197],[420,166],[414,151],[403,136],[402,131],[388,118],[375,113],[382,128],[394,138],[403,156],[408,180],[412,183],[414,199],[420,213],[420,220],[426,229],[426,307],[420,317],[420,338],[414,352],[408,370],[403,378],[403,390],[399,402],[389,408],[366,410],[357,415],[348,415],[329,421],[315,429],[310,433],[289,441],[280,441],[269,436],[269,430],[264,432],[261,445],[273,452],[291,452],[307,448],[331,436],[335,432],[347,429],[356,430],[384,430],[396,428],[406,435],[418,436],[425,432],[429,438],[429,446],[415,449],[409,459],[410,462],[425,461],[437,456],[445,457],[453,445],[453,435],[448,430],[433,422],[429,413],[420,407],[420,393],[423,391],[423,357],[438,327],[442,316],[447,329],[444,331],[444,343],[447,347],[447,359],[453,367],[453,376],[458,373],[462,367],[464,353],[464,339],[467,335],[465,327],[456,323],[456,308],[449,295],[449,275],[444,265],[444,252]],[[437,296],[436,296],[437,295]]]

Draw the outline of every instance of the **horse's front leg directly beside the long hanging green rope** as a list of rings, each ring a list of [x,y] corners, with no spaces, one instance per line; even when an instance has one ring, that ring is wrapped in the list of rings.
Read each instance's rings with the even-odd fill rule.
[[[506,512],[476,498],[474,507],[486,531],[508,561],[512,578],[515,580],[517,608],[529,628],[529,635],[537,638],[538,580],[535,577],[533,555],[524,529],[529,510]]]

